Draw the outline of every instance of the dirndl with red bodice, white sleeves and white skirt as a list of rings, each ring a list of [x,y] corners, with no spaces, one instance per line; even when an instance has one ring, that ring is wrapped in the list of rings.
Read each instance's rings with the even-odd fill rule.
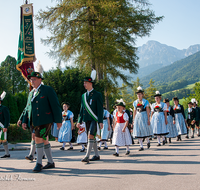
[[[117,122],[115,125],[112,144],[115,146],[129,146],[132,144],[132,139],[128,128],[126,127],[125,132],[122,132],[122,129],[125,126],[125,122],[128,121],[128,114],[123,113],[121,116],[116,112],[115,121]]]

